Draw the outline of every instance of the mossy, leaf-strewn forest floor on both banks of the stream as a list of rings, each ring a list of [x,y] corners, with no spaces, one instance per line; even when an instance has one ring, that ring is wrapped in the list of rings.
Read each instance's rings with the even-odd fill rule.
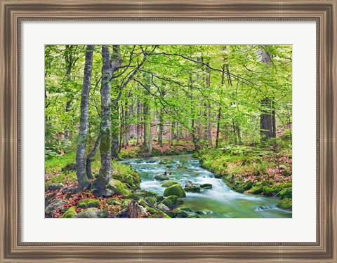
[[[166,142],[164,147],[154,143],[153,149],[154,155],[159,156],[190,154],[193,147],[189,141],[180,141],[174,146]],[[141,156],[138,146],[121,149],[121,158]],[[202,167],[222,178],[234,191],[278,196],[281,198],[279,208],[291,210],[291,148],[272,151],[259,147],[227,146],[204,148],[194,156],[200,160]],[[46,159],[46,217],[132,217],[131,212],[134,217],[198,217],[197,214],[187,216],[178,208],[182,199],[171,200],[140,190],[138,173],[117,161],[113,162],[112,178],[121,184],[117,187],[120,191],[116,191],[114,196],[95,196],[95,189],[72,194],[70,190],[77,187],[74,160],[74,151]],[[93,175],[98,173],[99,168],[98,156],[92,163]]]

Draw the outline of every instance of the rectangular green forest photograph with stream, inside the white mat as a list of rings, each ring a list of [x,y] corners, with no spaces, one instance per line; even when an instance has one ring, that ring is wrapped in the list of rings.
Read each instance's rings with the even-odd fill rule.
[[[46,45],[45,218],[291,218],[291,45]]]

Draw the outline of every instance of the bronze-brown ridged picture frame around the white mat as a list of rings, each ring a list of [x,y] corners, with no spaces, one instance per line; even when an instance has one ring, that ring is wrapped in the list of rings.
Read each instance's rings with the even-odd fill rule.
[[[1,262],[337,262],[337,1],[1,0]],[[25,20],[317,22],[317,241],[314,243],[27,243],[21,241],[20,25]]]

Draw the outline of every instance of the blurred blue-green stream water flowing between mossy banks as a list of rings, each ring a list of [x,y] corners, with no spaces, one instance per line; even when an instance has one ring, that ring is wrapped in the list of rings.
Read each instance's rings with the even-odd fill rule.
[[[164,194],[164,181],[154,180],[156,175],[171,172],[170,180],[185,184],[212,184],[212,189],[201,189],[200,193],[186,192],[181,207],[204,211],[200,217],[291,217],[292,213],[277,208],[279,198],[253,194],[240,194],[232,191],[213,173],[200,167],[198,159],[190,155],[160,156],[146,159],[128,159],[122,161],[135,168],[142,182],[141,189]]]

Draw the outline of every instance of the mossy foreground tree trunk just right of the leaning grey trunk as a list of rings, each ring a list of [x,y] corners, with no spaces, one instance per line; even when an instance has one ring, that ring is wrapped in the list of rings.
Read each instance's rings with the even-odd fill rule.
[[[93,187],[99,196],[111,196],[113,193],[106,189],[107,183],[112,176],[112,133],[111,133],[111,97],[110,81],[114,72],[121,65],[119,46],[113,46],[113,54],[110,60],[109,48],[102,46],[102,86],[100,88],[100,104],[102,119],[100,122],[100,173],[93,182]]]

